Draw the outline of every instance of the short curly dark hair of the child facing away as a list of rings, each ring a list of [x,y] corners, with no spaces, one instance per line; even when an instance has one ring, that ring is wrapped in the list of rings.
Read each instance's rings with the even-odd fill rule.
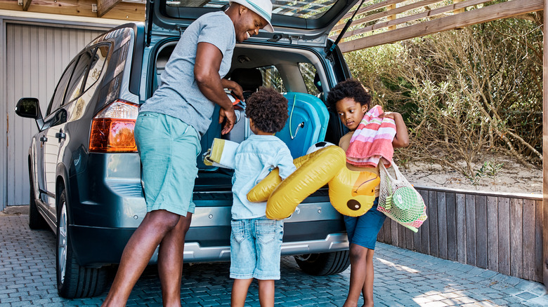
[[[274,88],[260,88],[246,101],[245,115],[253,120],[256,128],[275,133],[282,130],[289,117],[287,99]]]

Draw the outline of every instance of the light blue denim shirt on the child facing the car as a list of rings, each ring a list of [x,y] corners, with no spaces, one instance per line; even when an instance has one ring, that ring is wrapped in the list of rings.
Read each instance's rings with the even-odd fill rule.
[[[287,145],[274,135],[250,135],[238,146],[232,178],[233,219],[254,219],[266,214],[266,202],[252,203],[247,193],[271,170],[280,168],[287,178],[296,170]]]

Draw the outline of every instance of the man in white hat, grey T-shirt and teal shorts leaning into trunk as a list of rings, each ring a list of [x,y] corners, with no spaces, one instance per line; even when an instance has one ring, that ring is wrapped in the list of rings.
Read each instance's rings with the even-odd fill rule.
[[[273,32],[270,0],[232,0],[225,12],[203,15],[183,32],[162,82],[142,106],[135,138],[143,165],[147,214],[129,239],[103,306],[124,306],[156,247],[164,306],[181,306],[185,234],[195,205],[194,180],[200,137],[211,123],[214,104],[226,134],[235,124],[232,102],[223,88],[242,88],[222,79],[235,43]]]

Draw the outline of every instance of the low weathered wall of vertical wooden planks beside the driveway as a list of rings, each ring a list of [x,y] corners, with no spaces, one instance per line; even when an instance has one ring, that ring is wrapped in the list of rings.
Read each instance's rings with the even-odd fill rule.
[[[542,195],[416,188],[428,219],[417,233],[386,219],[379,242],[542,282]]]

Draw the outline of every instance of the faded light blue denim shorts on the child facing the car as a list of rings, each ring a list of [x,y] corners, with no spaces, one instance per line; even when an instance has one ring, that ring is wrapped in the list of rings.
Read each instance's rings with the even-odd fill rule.
[[[230,278],[280,279],[284,222],[259,217],[230,224]]]

